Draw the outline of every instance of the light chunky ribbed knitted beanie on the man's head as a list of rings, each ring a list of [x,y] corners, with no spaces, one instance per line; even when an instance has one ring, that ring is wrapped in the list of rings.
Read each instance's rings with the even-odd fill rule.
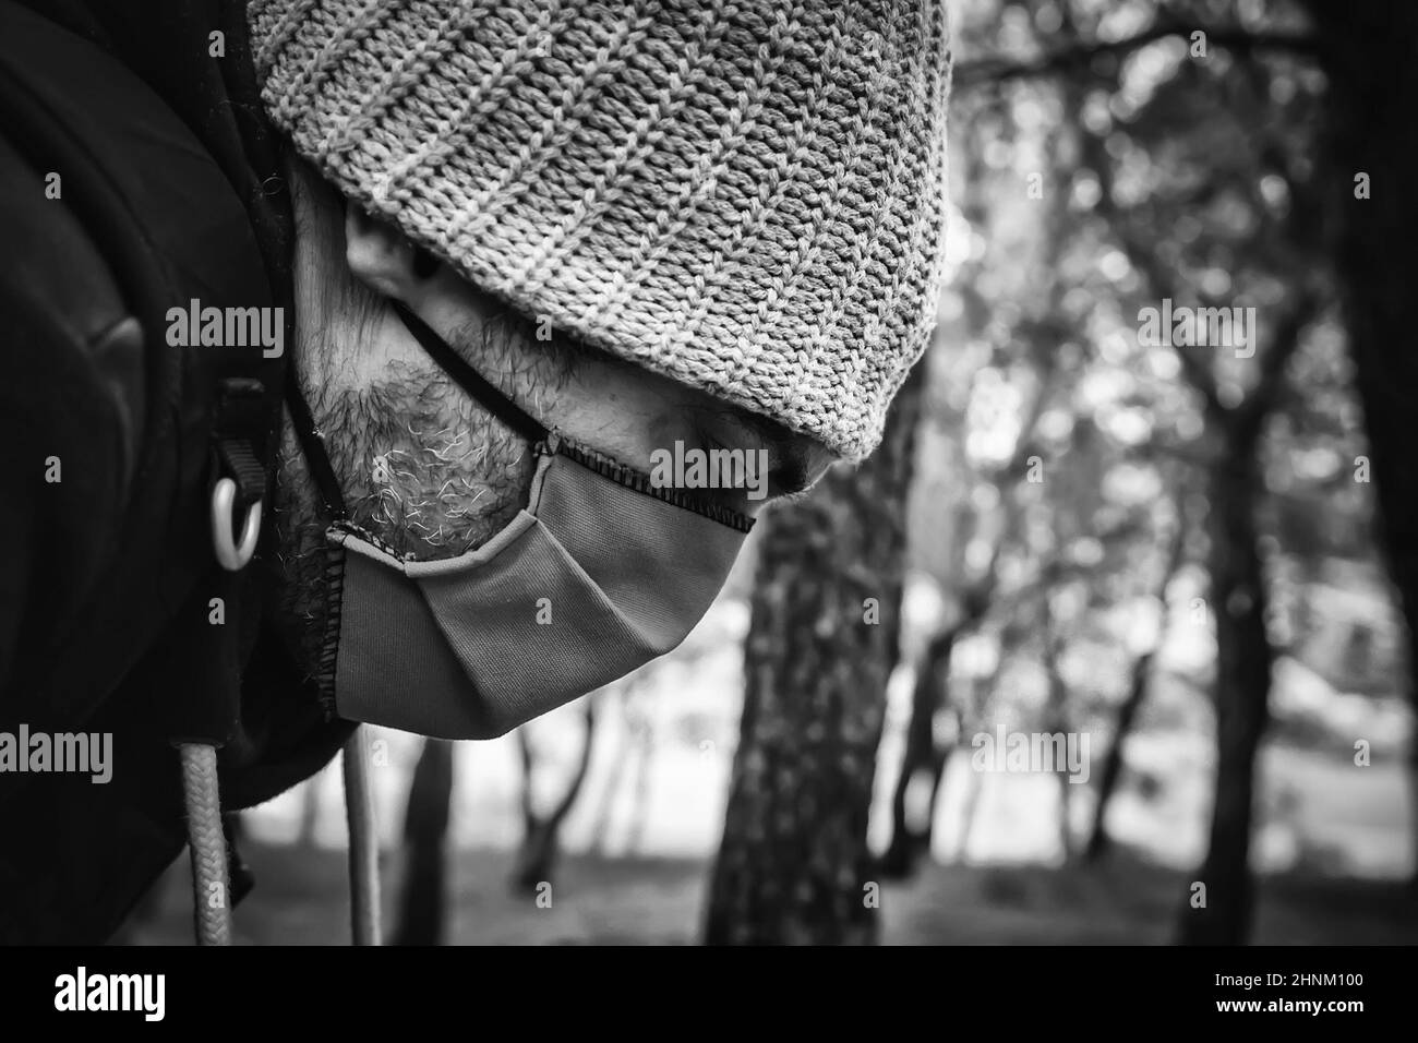
[[[934,322],[939,0],[252,0],[272,121],[478,288],[848,458]]]

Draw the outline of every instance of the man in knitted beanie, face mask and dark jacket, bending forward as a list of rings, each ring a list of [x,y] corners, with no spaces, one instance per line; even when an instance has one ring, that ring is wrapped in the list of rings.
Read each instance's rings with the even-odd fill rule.
[[[0,0],[0,40],[4,941],[108,937],[184,817],[224,907],[218,776],[668,651],[926,343],[927,0]]]

